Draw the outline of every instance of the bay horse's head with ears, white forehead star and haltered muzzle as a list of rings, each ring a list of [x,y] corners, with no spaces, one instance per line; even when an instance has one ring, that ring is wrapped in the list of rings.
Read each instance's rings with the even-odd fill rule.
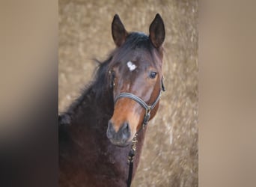
[[[112,37],[116,49],[109,63],[108,79],[115,103],[106,134],[118,146],[128,145],[159,107],[165,26],[158,13],[149,33],[129,33],[119,16],[114,16]]]

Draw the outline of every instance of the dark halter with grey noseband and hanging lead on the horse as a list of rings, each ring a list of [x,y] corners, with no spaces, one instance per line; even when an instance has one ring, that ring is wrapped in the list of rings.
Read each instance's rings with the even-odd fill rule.
[[[113,85],[114,86],[114,85]],[[150,111],[155,108],[156,104],[159,102],[159,99],[161,97],[161,93],[162,91],[165,91],[165,87],[163,85],[163,82],[162,82],[162,79],[161,79],[161,88],[160,91],[159,91],[159,94],[158,96],[156,97],[156,100],[153,102],[152,105],[147,105],[146,102],[144,102],[144,100],[142,100],[141,98],[139,98],[138,96],[135,96],[134,94],[132,93],[127,93],[127,92],[123,92],[123,93],[120,93],[116,98],[115,98],[115,102],[114,102],[114,105],[115,103],[118,101],[118,99],[121,99],[121,98],[129,98],[129,99],[132,99],[134,100],[135,102],[138,102],[138,104],[140,104],[144,109],[145,109],[145,114],[144,114],[144,120],[143,120],[143,123],[142,123],[142,128],[141,129],[144,129],[144,126],[147,125],[149,119],[150,119]],[[141,130],[139,129],[138,132]],[[133,170],[133,157],[135,156],[135,150],[136,150],[136,143],[137,143],[137,135],[138,135],[138,132],[135,133],[135,136],[134,138],[132,138],[132,147],[131,147],[131,150],[129,150],[129,155],[128,155],[128,159],[127,159],[127,163],[129,165],[129,174],[128,174],[128,179],[127,179],[127,187],[131,186],[131,183],[132,183],[132,170]]]

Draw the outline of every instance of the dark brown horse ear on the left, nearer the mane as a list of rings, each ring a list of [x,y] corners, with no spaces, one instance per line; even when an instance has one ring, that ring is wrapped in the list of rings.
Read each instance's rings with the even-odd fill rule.
[[[115,14],[112,22],[112,37],[115,45],[118,47],[121,46],[124,43],[127,35],[128,32],[125,30],[121,19],[119,18],[118,14]]]

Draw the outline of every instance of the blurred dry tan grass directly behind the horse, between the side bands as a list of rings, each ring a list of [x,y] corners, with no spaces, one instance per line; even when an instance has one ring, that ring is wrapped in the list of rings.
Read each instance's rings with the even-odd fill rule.
[[[132,186],[198,186],[198,1],[59,0],[59,111],[79,96],[97,64],[115,48],[118,13],[127,31],[165,22],[165,93],[147,128]]]

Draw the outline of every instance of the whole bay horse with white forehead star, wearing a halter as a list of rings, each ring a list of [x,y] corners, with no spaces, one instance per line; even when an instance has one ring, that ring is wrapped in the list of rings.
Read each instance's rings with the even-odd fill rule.
[[[147,122],[164,90],[165,26],[159,13],[149,32],[128,33],[114,16],[116,49],[99,62],[94,82],[58,117],[59,186],[130,186]]]

